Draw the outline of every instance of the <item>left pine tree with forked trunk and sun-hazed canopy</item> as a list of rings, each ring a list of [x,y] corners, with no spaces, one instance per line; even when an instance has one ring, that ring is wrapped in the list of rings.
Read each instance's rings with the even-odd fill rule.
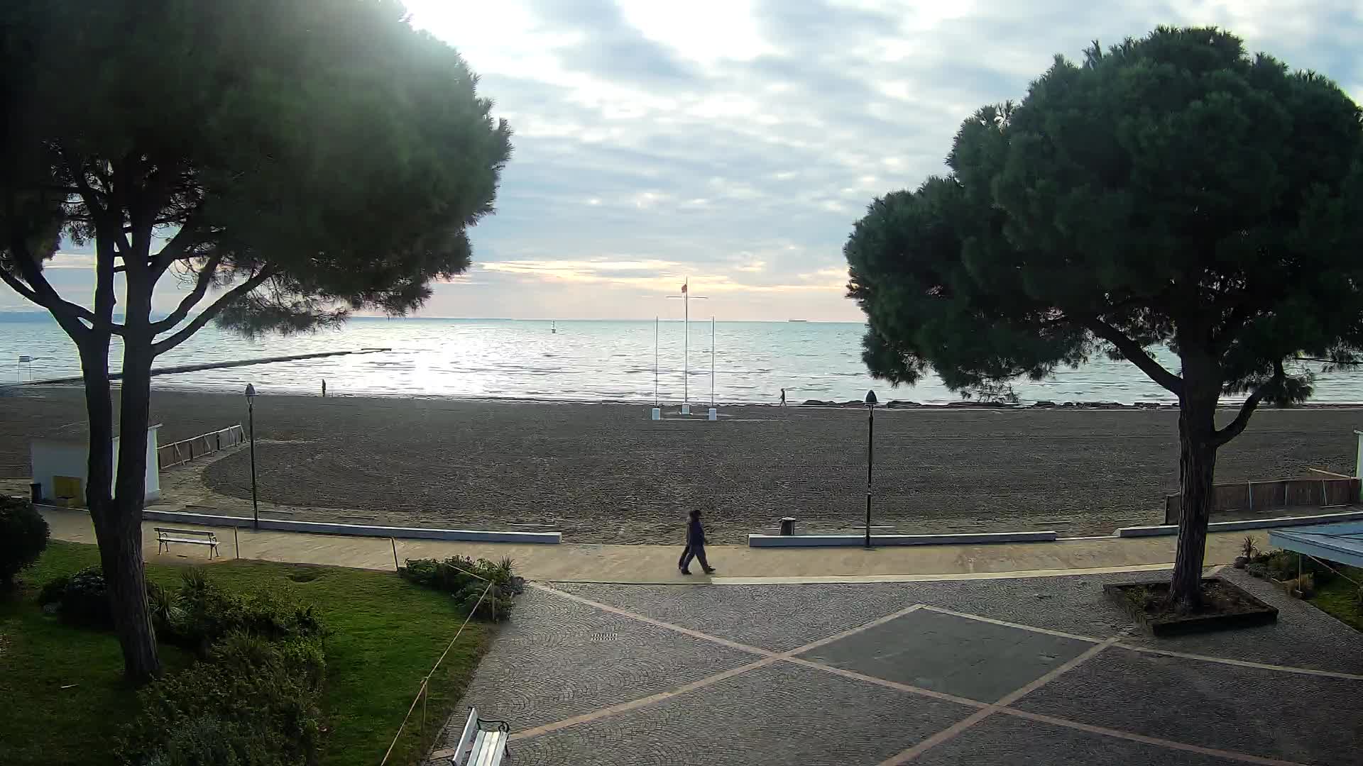
[[[213,320],[290,333],[416,308],[469,267],[511,131],[397,0],[10,0],[0,71],[0,279],[79,350],[86,504],[142,681],[159,672],[140,542],[153,358]],[[44,275],[63,240],[93,245],[89,301]],[[183,298],[154,318],[162,279]]]

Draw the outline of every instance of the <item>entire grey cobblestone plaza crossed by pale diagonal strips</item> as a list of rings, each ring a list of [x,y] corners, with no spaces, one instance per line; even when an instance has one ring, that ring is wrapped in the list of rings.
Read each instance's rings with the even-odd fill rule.
[[[432,758],[476,706],[518,766],[1363,762],[1363,637],[1223,577],[1278,623],[1154,642],[1101,594],[1152,572],[536,585]]]

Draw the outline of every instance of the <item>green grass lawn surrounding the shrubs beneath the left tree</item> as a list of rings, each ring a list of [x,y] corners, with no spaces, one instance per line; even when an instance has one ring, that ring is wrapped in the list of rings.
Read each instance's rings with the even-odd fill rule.
[[[121,680],[123,658],[112,634],[72,628],[34,602],[48,579],[98,563],[93,545],[53,541],[23,572],[25,589],[0,600],[0,763],[106,763],[112,739],[132,717],[135,691]],[[151,562],[151,579],[179,586],[183,564]],[[315,604],[327,638],[323,698],[326,766],[373,766],[398,731],[421,677],[463,616],[448,596],[420,589],[393,572],[233,560],[206,567],[229,590],[273,590]],[[492,628],[469,623],[431,680],[427,725],[421,706],[388,763],[417,763],[458,702]],[[162,645],[168,671],[192,657]],[[68,687],[68,688],[63,688]]]

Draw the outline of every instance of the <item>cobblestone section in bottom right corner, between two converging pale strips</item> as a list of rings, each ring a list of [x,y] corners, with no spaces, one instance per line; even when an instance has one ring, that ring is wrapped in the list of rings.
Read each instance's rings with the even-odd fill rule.
[[[1111,647],[1014,707],[1304,763],[1363,763],[1363,681]]]

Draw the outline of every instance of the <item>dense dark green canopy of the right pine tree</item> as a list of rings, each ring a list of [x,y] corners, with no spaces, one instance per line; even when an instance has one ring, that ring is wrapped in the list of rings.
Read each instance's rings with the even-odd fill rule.
[[[996,391],[1126,358],[1179,398],[1184,497],[1201,503],[1190,459],[1209,482],[1259,402],[1310,395],[1296,360],[1363,348],[1360,159],[1352,99],[1225,31],[1160,27],[1056,57],[1021,102],[965,120],[947,176],[856,224],[844,254],[866,363]],[[1223,394],[1246,401],[1216,428]]]

